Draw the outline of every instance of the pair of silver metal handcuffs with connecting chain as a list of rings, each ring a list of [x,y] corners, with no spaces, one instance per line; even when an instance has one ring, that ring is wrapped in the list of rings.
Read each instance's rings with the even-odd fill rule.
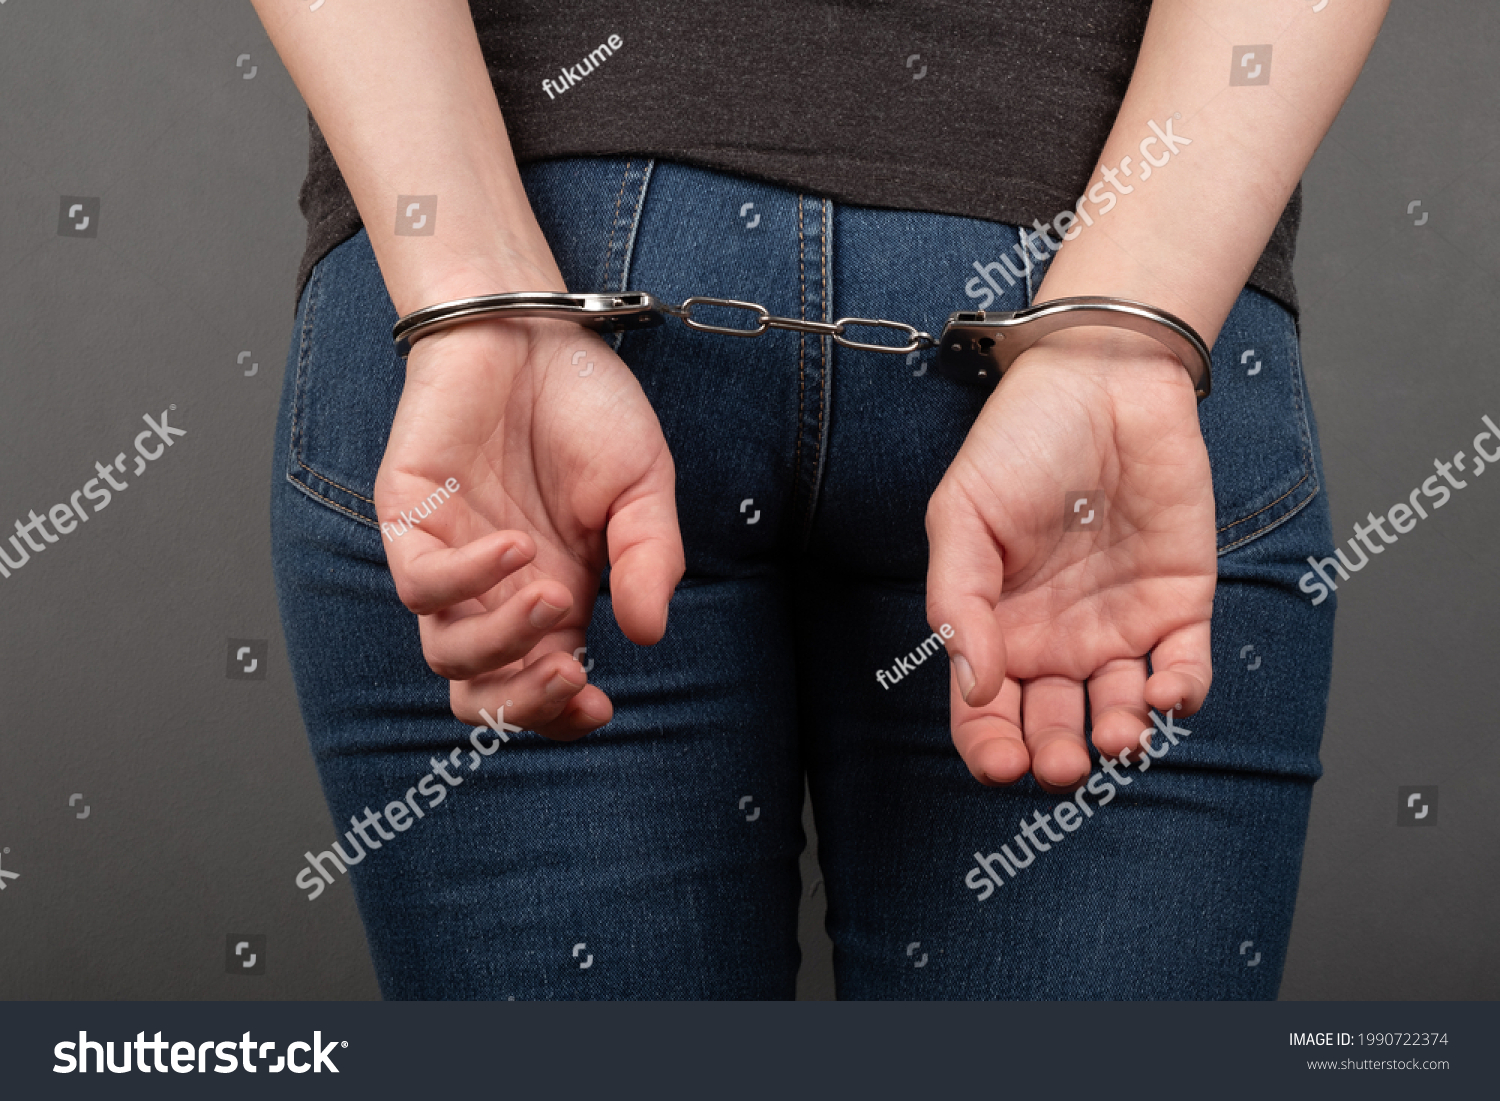
[[[711,326],[693,316],[694,306],[723,306],[750,310],[756,315],[754,328]],[[592,294],[561,294],[550,291],[520,291],[513,294],[483,294],[474,298],[458,298],[414,310],[396,322],[392,338],[396,352],[405,357],[411,345],[429,333],[472,321],[480,316],[502,315],[513,318],[555,318],[576,321],[600,333],[620,333],[634,328],[660,326],[666,316],[675,316],[688,328],[700,333],[724,336],[760,336],[771,328],[786,328],[794,333],[831,336],[836,344],[860,351],[879,351],[909,356],[914,351],[938,346],[938,374],[957,382],[994,388],[1016,357],[1036,340],[1064,328],[1082,326],[1107,326],[1128,328],[1149,336],[1186,368],[1192,380],[1192,392],[1202,402],[1209,396],[1210,357],[1203,338],[1182,318],[1164,309],[1148,306],[1130,298],[1082,296],[1076,298],[1053,298],[1012,312],[975,310],[948,315],[942,338],[933,339],[912,326],[898,321],[870,318],[840,318],[834,322],[778,318],[753,302],[734,298],[708,298],[694,296],[681,306],[670,306],[642,291],[600,291]],[[864,344],[850,340],[844,333],[855,326],[892,328],[906,334],[906,344]]]

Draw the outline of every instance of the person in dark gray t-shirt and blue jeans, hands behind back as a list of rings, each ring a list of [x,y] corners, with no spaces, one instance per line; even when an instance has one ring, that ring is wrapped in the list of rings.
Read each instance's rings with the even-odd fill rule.
[[[255,6],[316,120],[298,885],[350,873],[387,998],[790,998],[804,777],[842,998],[1275,996],[1334,612],[1294,189],[1383,3]],[[993,393],[672,320],[392,346],[564,290],[1113,296],[1214,393],[1108,327]]]

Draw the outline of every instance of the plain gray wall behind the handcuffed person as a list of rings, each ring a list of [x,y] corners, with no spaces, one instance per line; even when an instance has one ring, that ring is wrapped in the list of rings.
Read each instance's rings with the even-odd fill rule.
[[[1497,52],[1492,3],[1400,3],[1305,178],[1336,540],[1500,418]],[[188,430],[0,579],[0,998],[378,996],[346,880],[291,885],[330,837],[267,522],[304,168],[249,3],[0,4],[0,526],[132,453],[142,414]],[[100,198],[96,237],[58,236],[62,195]],[[1472,480],[1340,591],[1282,998],[1500,992],[1497,520],[1500,477]],[[231,638],[268,640],[264,680],[225,675]],[[1396,826],[1430,784],[1436,826]],[[810,850],[804,998],[832,996],[822,909]],[[264,975],[225,974],[231,933],[267,938]]]

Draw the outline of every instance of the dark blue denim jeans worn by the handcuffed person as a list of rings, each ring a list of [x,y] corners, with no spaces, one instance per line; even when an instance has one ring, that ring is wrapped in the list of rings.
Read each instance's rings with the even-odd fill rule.
[[[573,290],[938,333],[990,286],[980,268],[993,309],[1022,308],[1041,278],[992,222],[646,159],[522,176]],[[1006,252],[1016,276],[993,262]],[[1208,704],[1108,806],[1088,795],[1062,840],[1036,832],[1012,874],[990,854],[1008,844],[1020,862],[1017,824],[1065,800],[1030,777],[969,776],[948,663],[926,664],[921,645],[924,512],[984,393],[819,336],[669,320],[614,338],[676,462],[687,574],[670,627],[656,646],[628,642],[606,574],[585,662],[614,720],[572,744],[471,741],[376,530],[404,381],[394,321],[362,231],[298,304],[272,496],[286,644],[342,846],[314,846],[322,876],[304,868],[288,890],[316,906],[326,882],[352,879],[386,998],[792,998],[804,776],[840,998],[1275,998],[1335,604],[1298,590],[1308,555],[1334,548],[1280,304],[1240,294],[1200,406],[1220,540]],[[912,670],[878,680],[898,657]],[[429,777],[417,794],[444,759],[460,784]],[[380,848],[362,844],[351,816],[402,801],[387,814],[400,832],[366,828]]]

